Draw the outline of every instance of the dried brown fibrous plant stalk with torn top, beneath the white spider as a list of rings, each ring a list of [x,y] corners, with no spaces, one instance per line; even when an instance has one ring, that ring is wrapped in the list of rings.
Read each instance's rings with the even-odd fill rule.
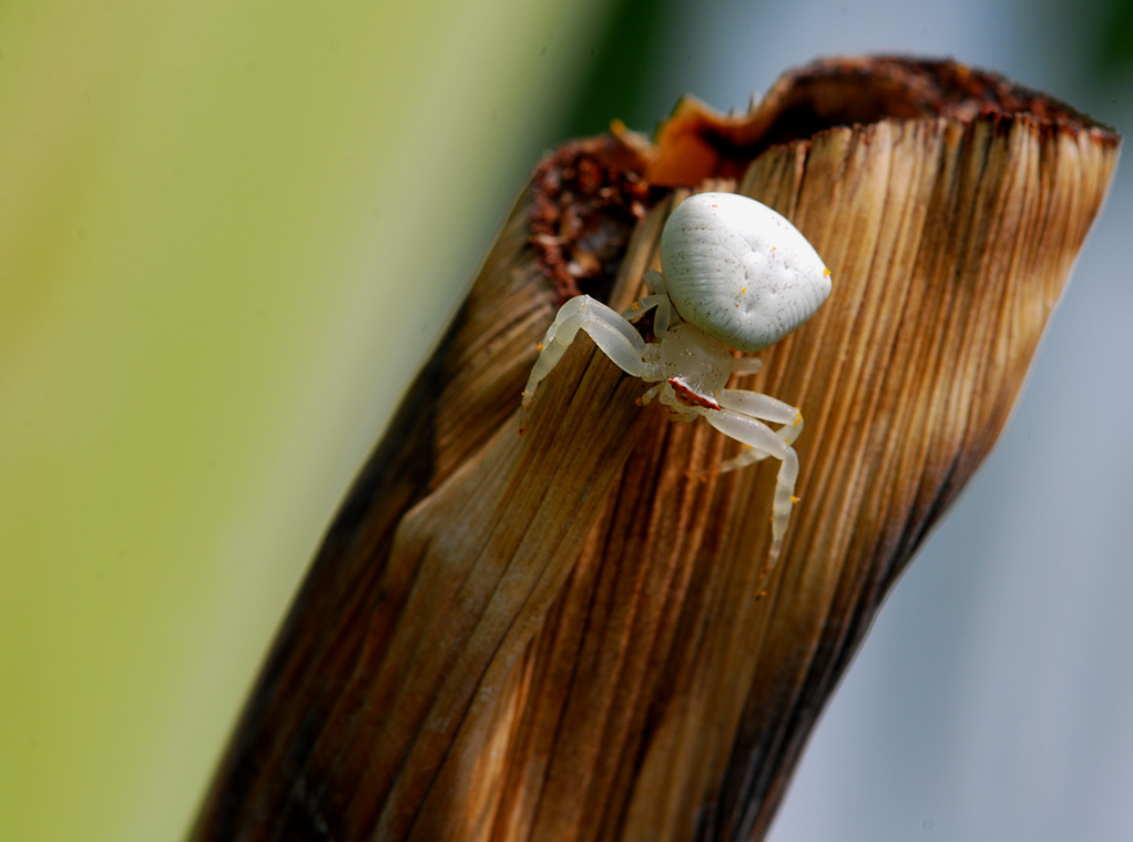
[[[332,526],[196,837],[761,837],[1003,428],[1118,144],[994,75],[867,58],[552,153]],[[706,189],[782,213],[835,279],[731,384],[807,419],[769,576],[776,460],[716,473],[739,448],[639,406],[582,334],[520,409],[563,301],[629,306]]]

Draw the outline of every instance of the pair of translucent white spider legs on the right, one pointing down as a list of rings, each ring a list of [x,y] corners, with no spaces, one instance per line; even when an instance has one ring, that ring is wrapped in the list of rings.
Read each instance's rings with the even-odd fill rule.
[[[701,415],[724,435],[747,444],[746,450],[724,462],[721,473],[735,470],[769,456],[781,460],[778,478],[775,483],[775,499],[772,503],[772,548],[767,556],[767,569],[775,565],[783,537],[791,520],[794,505],[794,482],[799,477],[799,457],[791,443],[802,432],[802,415],[798,409],[781,400],[758,392],[725,389],[719,396],[719,410],[705,409]],[[783,424],[773,431],[752,415],[759,414],[775,424]]]

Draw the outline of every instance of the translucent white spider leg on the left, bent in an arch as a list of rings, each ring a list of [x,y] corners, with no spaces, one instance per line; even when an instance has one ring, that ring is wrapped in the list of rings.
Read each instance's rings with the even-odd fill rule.
[[[590,296],[576,296],[559,308],[555,321],[539,343],[539,358],[535,360],[531,376],[523,390],[523,406],[531,406],[539,383],[553,369],[579,331],[586,333],[610,359],[627,374],[645,374],[645,340],[633,326]]]

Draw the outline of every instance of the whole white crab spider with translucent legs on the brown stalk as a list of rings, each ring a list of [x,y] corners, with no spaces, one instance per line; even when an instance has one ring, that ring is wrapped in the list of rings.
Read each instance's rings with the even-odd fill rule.
[[[769,569],[794,502],[799,459],[791,444],[802,414],[766,394],[725,389],[733,373],[753,374],[760,365],[730,348],[757,351],[799,328],[830,294],[830,272],[784,216],[731,193],[701,193],[676,206],[662,233],[661,269],[646,273],[650,294],[622,315],[589,296],[566,301],[539,345],[523,406],[583,330],[615,365],[656,383],[642,403],[656,398],[678,420],[702,416],[747,445],[721,471],[780,459]],[[656,341],[646,342],[629,320],[651,308]],[[765,422],[782,426],[773,431]]]

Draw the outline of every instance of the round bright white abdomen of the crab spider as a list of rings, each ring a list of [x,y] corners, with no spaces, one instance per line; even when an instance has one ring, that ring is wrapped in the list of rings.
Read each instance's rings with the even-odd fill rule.
[[[700,193],[676,206],[662,235],[661,267],[681,317],[741,351],[802,325],[832,287],[798,228],[733,193]]]

